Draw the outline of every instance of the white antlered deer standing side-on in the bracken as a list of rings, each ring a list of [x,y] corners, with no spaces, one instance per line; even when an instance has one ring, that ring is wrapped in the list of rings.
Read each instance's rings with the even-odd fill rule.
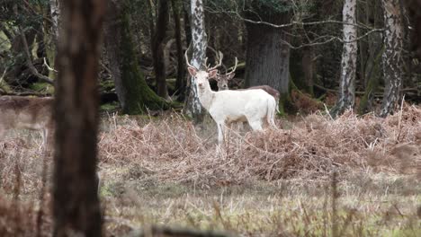
[[[189,73],[196,81],[199,101],[217,123],[219,145],[223,142],[226,126],[232,122],[248,122],[253,130],[262,130],[264,122],[276,127],[274,124],[276,101],[272,95],[261,89],[213,92],[210,89],[209,79],[217,75],[218,70],[215,69],[217,66],[200,70],[189,64],[187,54],[184,57]],[[220,57],[219,65],[221,60]]]

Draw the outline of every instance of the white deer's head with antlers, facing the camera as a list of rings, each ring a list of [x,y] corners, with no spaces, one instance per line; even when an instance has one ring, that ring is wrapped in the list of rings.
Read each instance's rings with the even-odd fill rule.
[[[195,66],[192,66],[189,63],[189,58],[187,57],[187,50],[184,53],[185,61],[187,64],[187,69],[189,70],[189,74],[193,76],[194,81],[196,82],[196,85],[199,90],[204,90],[209,87],[209,79],[214,78],[218,74],[217,67],[222,65],[222,53],[219,52],[219,63],[216,66],[208,67],[206,66],[207,58],[205,59],[205,70],[199,69]]]

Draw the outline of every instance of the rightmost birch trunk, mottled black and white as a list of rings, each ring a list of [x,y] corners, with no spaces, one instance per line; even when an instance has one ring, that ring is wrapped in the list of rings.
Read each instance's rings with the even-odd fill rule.
[[[384,11],[384,46],[382,63],[385,90],[381,103],[381,117],[397,109],[402,85],[403,24],[399,0],[382,0]]]

